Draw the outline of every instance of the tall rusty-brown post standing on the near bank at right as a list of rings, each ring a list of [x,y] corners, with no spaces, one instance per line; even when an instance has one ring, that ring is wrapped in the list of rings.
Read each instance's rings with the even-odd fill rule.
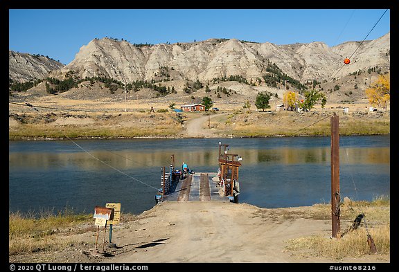
[[[331,116],[331,223],[332,237],[337,238],[339,222],[339,116]]]

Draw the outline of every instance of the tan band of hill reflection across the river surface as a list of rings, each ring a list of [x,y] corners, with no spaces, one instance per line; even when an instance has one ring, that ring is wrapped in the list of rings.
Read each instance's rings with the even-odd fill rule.
[[[215,149],[215,148],[214,148]],[[190,152],[167,152],[154,150],[152,153],[136,151],[94,151],[90,152],[94,157],[105,163],[112,163],[118,169],[135,169],[141,167],[161,166],[170,161],[170,155],[180,161],[189,161],[196,166],[215,166],[218,164],[218,149],[208,151]],[[245,158],[245,164],[258,163],[281,163],[285,165],[299,163],[327,163],[330,164],[330,148],[318,147],[309,149],[294,149],[282,147],[278,149],[234,149],[234,152]],[[67,166],[77,167],[81,170],[101,170],[104,165],[98,163],[94,157],[88,156],[86,152],[76,153],[53,153],[53,152],[20,152],[9,154],[10,167],[40,168],[63,168]],[[389,147],[357,148],[346,147],[340,150],[340,161],[346,164],[386,164],[390,161]]]

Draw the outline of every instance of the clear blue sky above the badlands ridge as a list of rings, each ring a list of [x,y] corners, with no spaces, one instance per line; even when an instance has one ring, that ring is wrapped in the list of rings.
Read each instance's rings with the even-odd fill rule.
[[[211,38],[335,46],[362,41],[385,9],[10,9],[9,49],[48,55],[69,64],[94,38],[134,44],[194,42]],[[390,31],[390,10],[367,39]]]

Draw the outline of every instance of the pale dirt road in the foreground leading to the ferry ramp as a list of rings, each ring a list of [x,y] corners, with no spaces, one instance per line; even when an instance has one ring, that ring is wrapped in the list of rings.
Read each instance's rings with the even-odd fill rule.
[[[330,220],[304,217],[303,207],[166,201],[115,234],[121,249],[104,262],[335,262],[285,250],[288,239],[330,235]],[[372,255],[356,261],[384,262]]]

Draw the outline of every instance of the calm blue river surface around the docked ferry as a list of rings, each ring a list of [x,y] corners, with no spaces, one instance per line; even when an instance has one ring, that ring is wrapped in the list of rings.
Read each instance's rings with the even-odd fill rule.
[[[122,212],[152,208],[161,167],[186,162],[218,170],[219,142],[242,157],[239,201],[263,208],[330,202],[330,137],[9,141],[9,210]],[[390,195],[390,136],[345,136],[340,143],[342,198]],[[80,148],[81,147],[81,148]]]

